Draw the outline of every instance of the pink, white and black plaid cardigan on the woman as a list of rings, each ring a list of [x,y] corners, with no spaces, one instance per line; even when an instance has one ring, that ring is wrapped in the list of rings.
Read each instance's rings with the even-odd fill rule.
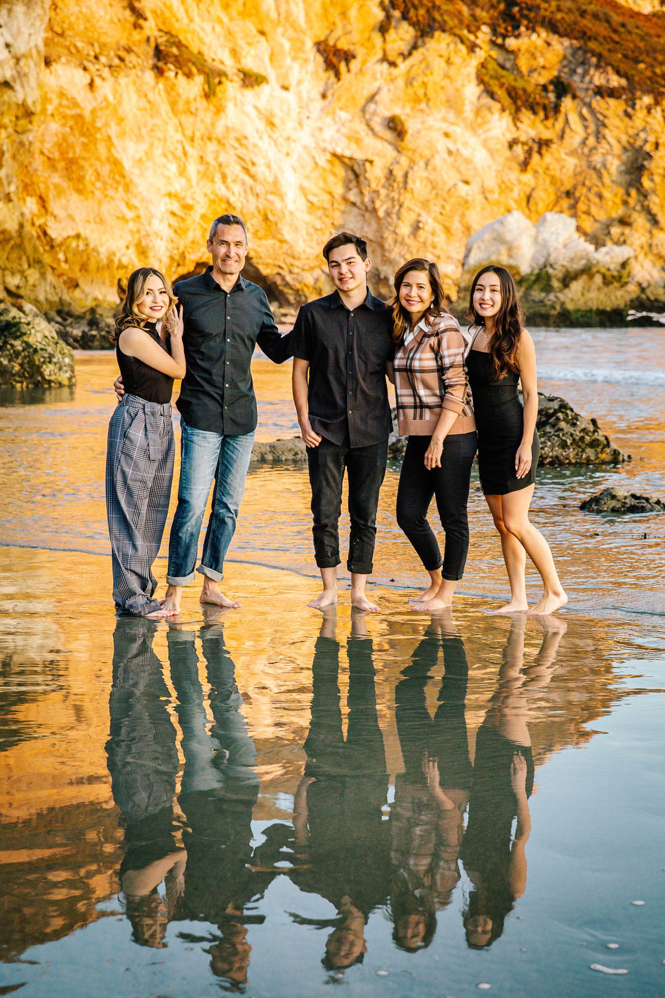
[[[397,399],[397,432],[400,436],[431,436],[443,409],[456,412],[448,433],[475,429],[464,363],[466,340],[457,320],[448,312],[430,332],[422,318],[413,338],[397,347],[392,362]]]

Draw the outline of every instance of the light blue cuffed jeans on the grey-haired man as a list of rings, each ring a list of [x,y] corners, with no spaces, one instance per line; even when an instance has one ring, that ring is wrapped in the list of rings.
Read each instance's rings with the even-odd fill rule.
[[[169,539],[167,582],[170,586],[187,586],[194,579],[199,535],[213,479],[213,508],[198,571],[220,582],[245,491],[254,430],[243,436],[224,436],[195,430],[184,419],[181,426],[178,509]]]

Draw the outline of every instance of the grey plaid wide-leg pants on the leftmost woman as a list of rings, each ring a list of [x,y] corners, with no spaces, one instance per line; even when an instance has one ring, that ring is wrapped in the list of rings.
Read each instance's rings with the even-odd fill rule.
[[[125,395],[109,423],[106,510],[113,598],[133,617],[161,609],[152,567],[169,512],[174,454],[171,405]]]

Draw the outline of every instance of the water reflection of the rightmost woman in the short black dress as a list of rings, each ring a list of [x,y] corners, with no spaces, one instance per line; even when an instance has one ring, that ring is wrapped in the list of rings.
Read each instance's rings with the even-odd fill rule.
[[[528,798],[533,753],[529,702],[549,683],[566,625],[542,618],[543,640],[533,666],[523,668],[523,618],[513,618],[498,688],[476,737],[473,786],[461,858],[472,889],[463,914],[466,941],[490,946],[526,887],[525,846],[531,830]],[[512,835],[512,822],[517,818]],[[512,837],[512,841],[511,841]]]

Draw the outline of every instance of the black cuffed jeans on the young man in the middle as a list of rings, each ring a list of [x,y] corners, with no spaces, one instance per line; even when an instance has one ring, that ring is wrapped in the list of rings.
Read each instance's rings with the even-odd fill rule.
[[[349,447],[324,437],[318,447],[308,447],[315,558],[319,568],[339,564],[341,483],[344,467],[348,475],[350,542],[346,568],[358,575],[372,569],[376,536],[378,490],[385,475],[387,439],[368,447]]]

